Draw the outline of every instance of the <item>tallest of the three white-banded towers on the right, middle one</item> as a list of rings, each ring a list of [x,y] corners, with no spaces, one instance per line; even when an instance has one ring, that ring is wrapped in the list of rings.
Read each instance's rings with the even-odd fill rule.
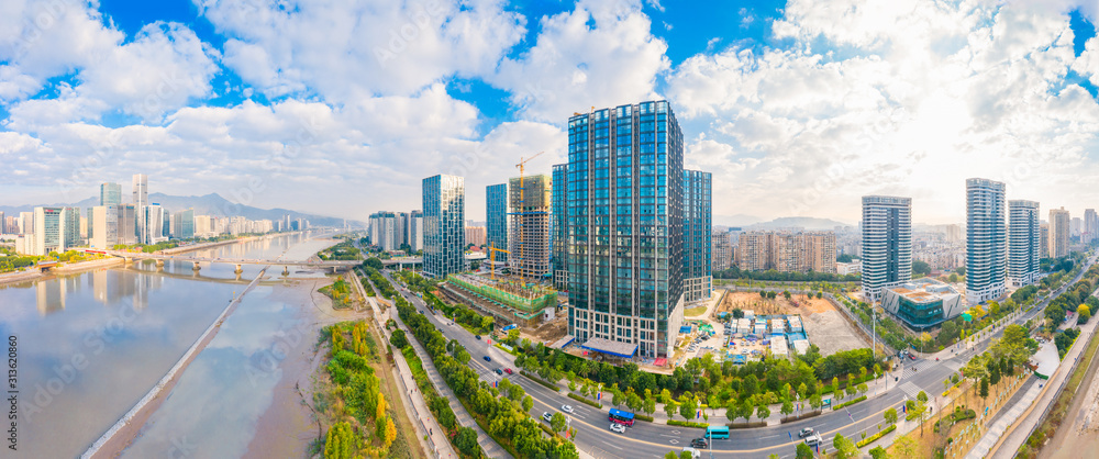
[[[966,301],[969,304],[996,300],[1007,289],[1008,233],[1003,222],[1003,214],[1007,212],[1004,204],[1003,182],[966,180],[965,283]]]

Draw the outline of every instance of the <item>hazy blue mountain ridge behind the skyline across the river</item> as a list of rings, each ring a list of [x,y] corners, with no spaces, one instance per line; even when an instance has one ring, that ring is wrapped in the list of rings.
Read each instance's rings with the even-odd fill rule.
[[[185,211],[188,209],[193,209],[196,215],[214,215],[214,216],[243,216],[248,220],[278,220],[284,215],[290,215],[290,219],[304,219],[313,226],[343,226],[343,219],[336,219],[332,216],[322,216],[308,214],[298,211],[291,211],[287,209],[259,209],[253,208],[251,205],[238,205],[230,202],[225,198],[222,198],[218,193],[210,193],[202,197],[174,197],[164,193],[152,193],[148,195],[148,202],[154,204],[160,204],[168,212],[175,213],[179,211]],[[7,215],[18,215],[19,212],[31,212],[34,208],[38,206],[71,206],[71,208],[91,208],[99,205],[99,198],[92,197],[80,202],[66,203],[66,204],[37,204],[37,205],[0,205],[0,212]],[[358,221],[347,221],[348,224],[353,226],[365,226],[363,222]]]

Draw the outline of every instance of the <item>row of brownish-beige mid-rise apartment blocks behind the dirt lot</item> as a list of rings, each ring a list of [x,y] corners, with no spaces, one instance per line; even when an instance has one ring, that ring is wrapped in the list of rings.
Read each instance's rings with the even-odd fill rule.
[[[751,231],[741,233],[736,266],[744,271],[835,273],[835,233]]]

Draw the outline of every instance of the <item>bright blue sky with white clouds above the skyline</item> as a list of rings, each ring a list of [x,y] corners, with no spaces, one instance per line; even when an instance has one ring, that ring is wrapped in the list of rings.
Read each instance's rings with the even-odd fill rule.
[[[565,160],[575,111],[668,99],[714,221],[957,222],[967,177],[1074,214],[1099,191],[1094,5],[1067,0],[3,1],[3,204],[101,181],[365,220],[434,173]],[[124,193],[125,194],[125,193]],[[1043,210],[1044,213],[1044,210]]]

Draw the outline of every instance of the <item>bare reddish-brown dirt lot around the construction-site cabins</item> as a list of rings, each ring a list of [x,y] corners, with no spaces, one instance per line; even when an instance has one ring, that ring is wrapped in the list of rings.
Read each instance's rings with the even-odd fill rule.
[[[821,354],[830,355],[840,350],[851,350],[870,347],[862,338],[843,313],[836,311],[828,300],[810,299],[796,294],[787,300],[779,295],[774,300],[764,300],[757,292],[729,292],[718,307],[718,312],[732,311],[740,307],[752,310],[759,314],[800,314],[809,335],[809,343],[817,345]]]

